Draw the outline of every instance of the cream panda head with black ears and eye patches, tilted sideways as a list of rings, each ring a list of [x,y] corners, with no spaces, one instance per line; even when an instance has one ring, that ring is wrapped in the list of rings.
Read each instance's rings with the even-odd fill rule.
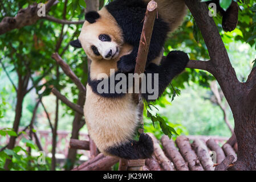
[[[124,43],[122,33],[113,16],[103,8],[86,14],[78,40],[70,44],[82,47],[91,60],[116,59]]]

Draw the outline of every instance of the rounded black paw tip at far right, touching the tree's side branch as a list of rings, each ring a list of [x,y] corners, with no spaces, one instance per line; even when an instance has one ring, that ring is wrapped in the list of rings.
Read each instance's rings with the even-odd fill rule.
[[[183,51],[171,51],[166,56],[165,63],[168,65],[179,65],[181,68],[185,68],[189,62],[189,56]]]

